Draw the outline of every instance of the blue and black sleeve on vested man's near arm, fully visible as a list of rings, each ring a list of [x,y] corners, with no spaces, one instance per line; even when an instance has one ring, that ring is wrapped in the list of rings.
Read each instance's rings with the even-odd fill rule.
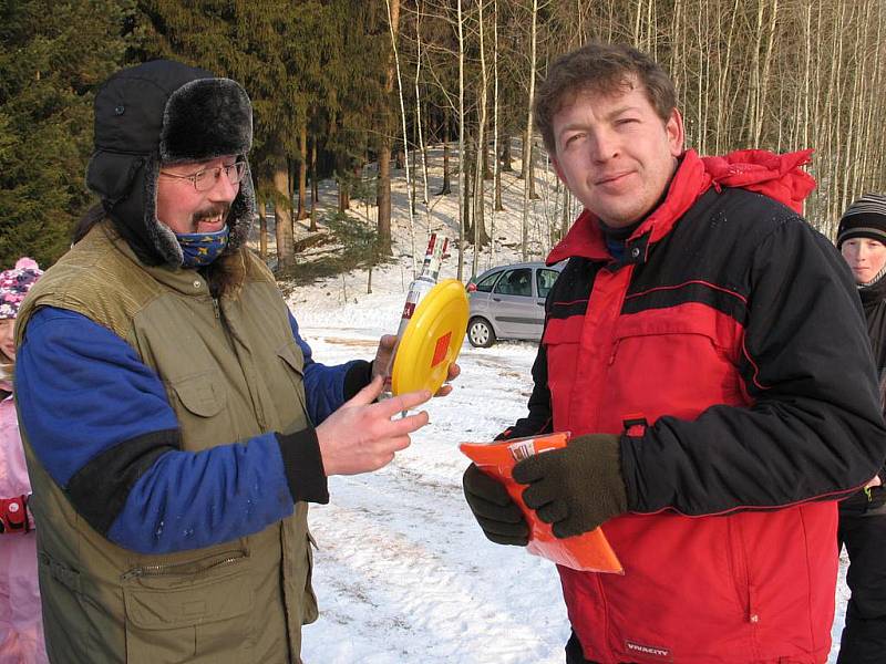
[[[310,446],[312,429],[184,452],[157,374],[78,313],[33,314],[18,351],[16,392],[42,466],[86,521],[121,547],[197,549],[292,512],[288,465],[305,455],[289,448]]]

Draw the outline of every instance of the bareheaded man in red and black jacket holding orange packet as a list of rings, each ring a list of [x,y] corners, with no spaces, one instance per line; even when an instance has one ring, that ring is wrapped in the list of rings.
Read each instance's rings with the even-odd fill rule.
[[[821,664],[836,500],[886,456],[864,319],[839,255],[800,217],[808,152],[701,158],[649,58],[590,44],[550,70],[536,123],[585,211],[548,257],[514,468],[557,537],[604,530],[624,575],[559,568],[569,664]],[[486,536],[518,508],[471,466]]]

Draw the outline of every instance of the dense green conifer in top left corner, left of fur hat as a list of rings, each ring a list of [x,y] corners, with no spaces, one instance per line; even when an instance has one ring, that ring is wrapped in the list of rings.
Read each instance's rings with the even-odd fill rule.
[[[94,203],[84,184],[96,87],[125,58],[131,2],[0,4],[0,266],[41,266]]]

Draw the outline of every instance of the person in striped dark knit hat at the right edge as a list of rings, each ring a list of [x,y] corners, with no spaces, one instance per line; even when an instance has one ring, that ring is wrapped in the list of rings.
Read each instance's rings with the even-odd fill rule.
[[[886,196],[865,194],[843,214],[837,248],[862,299],[880,395],[886,391]],[[886,400],[884,401],[886,408]],[[852,595],[839,644],[839,664],[886,658],[886,467],[839,505],[837,547],[846,547]]]

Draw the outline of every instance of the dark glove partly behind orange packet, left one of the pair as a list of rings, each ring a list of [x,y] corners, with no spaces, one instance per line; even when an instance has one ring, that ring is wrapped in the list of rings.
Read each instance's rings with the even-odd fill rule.
[[[462,478],[464,498],[483,528],[483,535],[496,544],[525,547],[529,543],[529,527],[505,487],[474,464]]]

